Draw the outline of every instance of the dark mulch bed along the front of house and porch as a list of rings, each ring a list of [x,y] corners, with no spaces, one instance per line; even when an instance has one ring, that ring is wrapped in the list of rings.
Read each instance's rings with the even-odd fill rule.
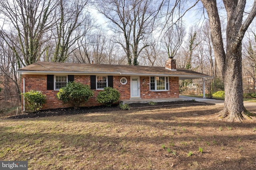
[[[196,101],[179,101],[179,102],[158,102],[155,105],[150,105],[148,103],[133,103],[129,104],[130,109],[155,109],[157,107],[181,107],[181,106],[189,106],[189,105],[211,105],[206,104],[204,102],[196,102]],[[48,117],[48,116],[57,116],[57,115],[74,115],[74,114],[84,114],[84,113],[100,113],[106,111],[118,111],[121,110],[118,105],[112,105],[111,107],[106,106],[95,106],[95,107],[79,107],[78,109],[74,109],[72,107],[69,108],[58,108],[58,109],[46,109],[40,110],[35,113],[24,113],[20,115],[14,115],[7,117],[8,119],[22,119],[22,118],[32,118],[32,117]]]

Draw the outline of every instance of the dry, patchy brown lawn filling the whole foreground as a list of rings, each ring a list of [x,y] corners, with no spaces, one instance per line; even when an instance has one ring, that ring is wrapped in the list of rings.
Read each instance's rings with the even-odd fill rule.
[[[216,119],[220,109],[5,119],[0,122],[0,160],[28,160],[30,170],[255,169],[255,119],[227,123]]]

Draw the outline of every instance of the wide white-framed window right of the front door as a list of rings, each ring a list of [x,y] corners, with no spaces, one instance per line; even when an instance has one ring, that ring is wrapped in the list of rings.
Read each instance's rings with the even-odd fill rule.
[[[169,78],[165,76],[150,77],[150,91],[169,90]]]

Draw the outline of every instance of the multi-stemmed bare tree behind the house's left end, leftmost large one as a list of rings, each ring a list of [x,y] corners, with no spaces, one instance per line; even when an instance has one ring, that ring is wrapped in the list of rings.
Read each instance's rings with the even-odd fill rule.
[[[43,37],[51,27],[52,11],[56,3],[53,0],[1,0],[2,18],[0,36],[9,45],[20,63],[26,66],[35,63],[41,55],[41,46],[47,40]],[[14,28],[14,29],[12,29]],[[11,31],[10,31],[11,30]],[[14,43],[10,32],[18,35],[18,43]],[[10,40],[10,41],[9,41]]]

